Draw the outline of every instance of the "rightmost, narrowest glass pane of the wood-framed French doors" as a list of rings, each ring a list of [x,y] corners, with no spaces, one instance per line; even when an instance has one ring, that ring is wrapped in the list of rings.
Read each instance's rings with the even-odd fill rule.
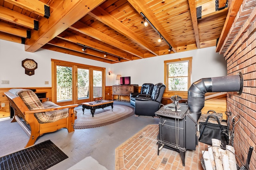
[[[102,71],[93,70],[93,97],[102,97]]]

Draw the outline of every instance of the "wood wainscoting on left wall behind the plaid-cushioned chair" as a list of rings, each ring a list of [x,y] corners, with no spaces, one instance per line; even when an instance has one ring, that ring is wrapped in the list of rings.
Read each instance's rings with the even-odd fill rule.
[[[49,101],[52,101],[52,87],[17,87],[18,89],[30,89],[35,90],[35,93],[46,93],[46,97],[49,98]],[[9,91],[12,88],[0,88],[0,103],[4,103],[4,107],[1,107],[0,104],[0,118],[10,117],[10,104],[5,96],[4,92]]]

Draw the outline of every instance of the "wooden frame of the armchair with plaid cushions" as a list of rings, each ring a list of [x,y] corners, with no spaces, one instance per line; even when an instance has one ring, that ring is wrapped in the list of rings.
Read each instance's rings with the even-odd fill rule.
[[[19,96],[14,95],[10,92],[5,92],[4,94],[10,101],[11,107],[14,109],[15,115],[11,122],[17,121],[23,129],[25,128],[25,132],[30,137],[25,148],[33,145],[36,142],[36,139],[44,133],[54,132],[60,128],[67,128],[69,133],[74,131],[74,108],[78,106],[77,104],[30,111]],[[42,113],[65,108],[68,108],[69,116],[67,118],[60,119],[52,123],[39,123],[36,117],[34,116],[34,113]],[[26,121],[26,123],[30,125],[31,131],[28,128],[26,128],[26,125],[24,125],[22,121],[20,121],[20,117],[22,117],[22,119],[24,119],[24,121]]]

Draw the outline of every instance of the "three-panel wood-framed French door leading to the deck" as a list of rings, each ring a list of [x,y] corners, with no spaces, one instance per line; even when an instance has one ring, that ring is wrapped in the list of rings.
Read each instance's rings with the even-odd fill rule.
[[[52,101],[58,105],[81,104],[103,97],[105,68],[52,59]]]

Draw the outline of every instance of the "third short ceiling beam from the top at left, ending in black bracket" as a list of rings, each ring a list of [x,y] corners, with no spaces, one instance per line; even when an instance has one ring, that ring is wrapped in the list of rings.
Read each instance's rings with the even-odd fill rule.
[[[5,22],[0,22],[0,31],[13,34],[15,36],[20,36],[22,38],[30,38],[29,30]]]

